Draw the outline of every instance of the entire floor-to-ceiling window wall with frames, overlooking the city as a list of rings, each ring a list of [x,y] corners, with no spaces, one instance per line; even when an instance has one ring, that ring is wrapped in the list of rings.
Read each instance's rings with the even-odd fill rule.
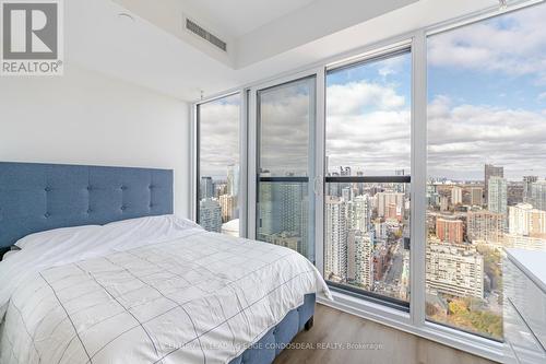
[[[395,310],[401,327],[498,348],[502,248],[546,249],[545,15],[541,4],[416,32],[247,89],[250,237],[317,262],[363,313],[384,304],[410,312]],[[238,129],[215,136],[238,120],[233,97],[198,106],[200,196],[217,211],[222,171],[239,161],[225,161]]]

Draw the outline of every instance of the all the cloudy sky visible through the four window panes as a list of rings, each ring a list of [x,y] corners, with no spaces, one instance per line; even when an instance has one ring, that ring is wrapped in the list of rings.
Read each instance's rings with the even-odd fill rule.
[[[428,38],[429,176],[479,180],[484,164],[494,163],[509,179],[546,177],[544,19],[539,4]],[[330,171],[410,171],[411,68],[405,54],[328,74]],[[312,84],[261,94],[262,168],[310,173]],[[225,175],[237,161],[238,118],[238,99],[202,106],[203,175]]]

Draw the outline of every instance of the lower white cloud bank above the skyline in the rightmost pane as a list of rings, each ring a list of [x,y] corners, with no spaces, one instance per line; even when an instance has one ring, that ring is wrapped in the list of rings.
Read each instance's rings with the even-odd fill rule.
[[[485,163],[508,178],[546,176],[546,115],[486,105],[452,105],[438,96],[428,107],[428,174],[483,178]]]

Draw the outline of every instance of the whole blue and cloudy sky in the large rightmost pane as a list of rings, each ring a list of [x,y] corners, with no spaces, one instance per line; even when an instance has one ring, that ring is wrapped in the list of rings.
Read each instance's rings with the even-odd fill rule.
[[[429,176],[546,177],[544,19],[541,4],[429,38]]]

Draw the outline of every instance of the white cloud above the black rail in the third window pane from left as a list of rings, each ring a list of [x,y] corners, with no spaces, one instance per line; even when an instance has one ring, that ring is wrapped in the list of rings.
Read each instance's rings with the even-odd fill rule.
[[[351,82],[329,86],[327,95],[330,171],[351,166],[368,175],[384,175],[410,169],[410,105],[394,85]]]

